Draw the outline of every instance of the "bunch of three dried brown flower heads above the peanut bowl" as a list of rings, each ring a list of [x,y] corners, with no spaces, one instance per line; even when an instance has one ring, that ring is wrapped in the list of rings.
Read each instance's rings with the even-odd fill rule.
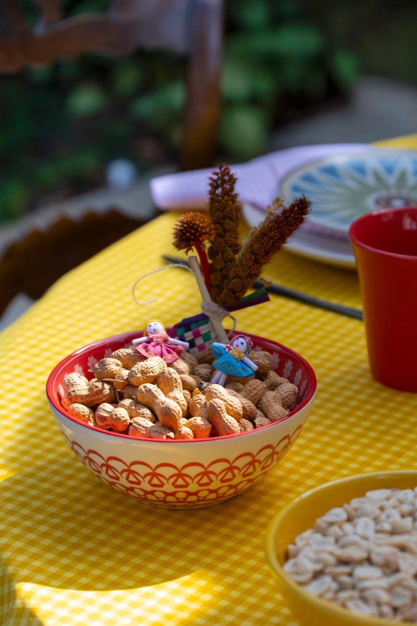
[[[212,300],[221,306],[235,306],[259,277],[264,265],[304,222],[311,202],[302,196],[284,207],[284,200],[275,198],[267,207],[264,221],[252,228],[249,237],[240,244],[236,177],[229,166],[222,163],[209,180],[211,219],[197,212],[178,218],[173,245],[187,253],[194,248]],[[210,246],[206,254],[207,242]]]

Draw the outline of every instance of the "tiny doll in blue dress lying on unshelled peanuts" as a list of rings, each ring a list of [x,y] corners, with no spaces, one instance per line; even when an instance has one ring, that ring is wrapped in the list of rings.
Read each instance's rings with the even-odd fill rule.
[[[250,361],[247,356],[252,349],[252,340],[245,335],[237,335],[233,337],[231,344],[212,345],[212,351],[215,357],[213,366],[217,369],[212,377],[212,383],[224,385],[227,375],[232,376],[250,376],[258,366]]]

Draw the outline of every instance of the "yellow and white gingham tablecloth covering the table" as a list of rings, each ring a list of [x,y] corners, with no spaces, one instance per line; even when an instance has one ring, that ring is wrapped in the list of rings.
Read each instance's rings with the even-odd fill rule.
[[[417,146],[417,136],[391,145]],[[54,365],[152,317],[170,326],[199,310],[193,277],[180,269],[138,285],[140,299],[156,302],[138,307],[131,295],[175,252],[175,218],[153,220],[69,272],[0,334],[1,624],[287,625],[264,557],[272,515],[326,481],[417,469],[417,394],[373,381],[363,322],[276,296],[237,312],[238,328],[302,354],[318,391],[294,448],[258,485],[212,508],[162,510],[117,493],[74,458],[46,403]],[[352,270],[281,252],[265,274],[361,306]]]

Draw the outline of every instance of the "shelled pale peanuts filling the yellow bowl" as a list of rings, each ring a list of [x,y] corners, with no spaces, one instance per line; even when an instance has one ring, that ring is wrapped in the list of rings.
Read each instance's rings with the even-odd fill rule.
[[[306,591],[368,617],[417,623],[417,488],[378,489],[327,511],[288,546]]]

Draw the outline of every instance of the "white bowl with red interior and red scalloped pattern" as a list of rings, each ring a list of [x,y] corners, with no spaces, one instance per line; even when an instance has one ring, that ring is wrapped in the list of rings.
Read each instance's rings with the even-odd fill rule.
[[[249,336],[255,350],[272,354],[274,371],[299,388],[296,408],[262,428],[192,441],[136,439],[88,426],[66,413],[59,402],[65,374],[77,371],[88,377],[96,361],[131,346],[137,331],[96,341],[58,363],[46,384],[49,407],[75,456],[107,485],[161,508],[215,505],[252,487],[281,461],[301,433],[316,394],[316,376],[299,354],[269,339]]]

